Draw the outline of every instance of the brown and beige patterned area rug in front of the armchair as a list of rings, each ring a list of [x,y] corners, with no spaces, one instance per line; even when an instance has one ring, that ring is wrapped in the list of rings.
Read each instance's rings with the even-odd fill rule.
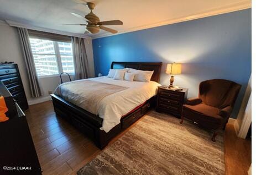
[[[223,136],[152,111],[77,174],[224,174]]]

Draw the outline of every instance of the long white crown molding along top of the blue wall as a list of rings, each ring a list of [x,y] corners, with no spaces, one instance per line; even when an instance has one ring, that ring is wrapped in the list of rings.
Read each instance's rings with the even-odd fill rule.
[[[248,8],[252,8],[252,1],[247,0],[247,1],[239,2],[239,3],[231,4],[229,6],[224,6],[221,8],[215,8],[215,9],[210,9],[210,10],[203,11],[200,13],[190,14],[190,15],[187,15],[186,17],[169,19],[169,20],[161,21],[159,23],[137,26],[135,28],[130,28],[128,30],[121,30],[117,34],[108,34],[107,33],[107,34],[95,35],[95,36],[92,36],[92,39],[98,39],[101,37],[107,37],[107,36],[113,36],[113,35],[120,35],[120,34],[124,34],[127,32],[155,28],[155,27],[162,26],[162,25],[175,24],[175,23],[180,23],[183,21],[189,21],[189,20],[194,20],[194,19],[199,19],[199,18],[211,17],[214,15],[235,12],[238,10],[243,10],[243,9],[248,9]]]

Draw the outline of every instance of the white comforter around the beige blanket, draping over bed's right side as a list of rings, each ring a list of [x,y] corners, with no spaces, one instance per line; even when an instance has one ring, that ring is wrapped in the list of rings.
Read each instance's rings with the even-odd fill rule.
[[[160,86],[155,81],[114,80],[107,76],[90,78],[90,80],[129,87],[126,90],[108,95],[100,101],[96,115],[103,118],[102,128],[100,129],[105,130],[105,132],[109,132],[119,124],[122,116],[156,95],[157,87]]]

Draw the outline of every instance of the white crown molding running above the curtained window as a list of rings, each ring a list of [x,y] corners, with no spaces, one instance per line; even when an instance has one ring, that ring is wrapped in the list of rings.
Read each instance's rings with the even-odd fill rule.
[[[66,31],[60,31],[60,30],[54,30],[54,29],[48,29],[48,28],[41,28],[41,27],[37,27],[37,26],[33,26],[33,25],[18,23],[18,22],[11,21],[11,20],[5,20],[5,21],[6,21],[7,25],[12,26],[12,27],[27,28],[27,29],[30,29],[30,30],[38,30],[38,31],[50,32],[50,33],[53,33],[53,34],[75,36],[75,37],[81,37],[83,39],[91,40],[91,37],[87,36],[85,34],[75,34],[75,33],[72,33],[72,32],[66,32]],[[2,22],[0,21],[0,24],[1,23]]]

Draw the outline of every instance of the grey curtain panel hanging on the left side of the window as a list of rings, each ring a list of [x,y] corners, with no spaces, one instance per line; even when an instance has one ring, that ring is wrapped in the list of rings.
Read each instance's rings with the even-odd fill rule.
[[[28,78],[29,78],[31,95],[32,97],[42,96],[42,92],[39,86],[38,76],[36,75],[36,71],[35,71],[35,63],[34,63],[32,50],[30,47],[28,30],[24,28],[18,28],[18,34],[19,34],[20,42],[22,43],[22,52],[25,60]]]

